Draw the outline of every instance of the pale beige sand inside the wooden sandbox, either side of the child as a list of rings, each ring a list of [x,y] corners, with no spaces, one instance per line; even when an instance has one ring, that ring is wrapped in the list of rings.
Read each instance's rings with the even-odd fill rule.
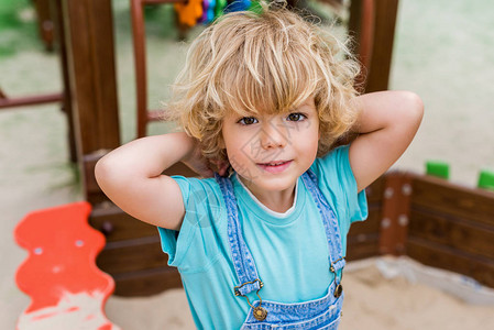
[[[383,267],[387,267],[386,276],[381,271]],[[480,299],[475,296],[483,296],[488,305],[465,302],[431,286],[430,278],[427,284],[426,279],[418,279],[419,276],[415,276],[415,280],[403,274],[389,278],[389,273],[399,267],[419,270],[421,274],[428,270],[407,258],[383,257],[349,263],[343,276],[345,298],[340,329],[494,329],[494,290],[471,295],[476,302]],[[447,278],[448,288],[457,290],[462,286],[454,275],[435,271]],[[182,289],[144,299],[112,297],[107,305],[107,316],[124,329],[194,329]]]

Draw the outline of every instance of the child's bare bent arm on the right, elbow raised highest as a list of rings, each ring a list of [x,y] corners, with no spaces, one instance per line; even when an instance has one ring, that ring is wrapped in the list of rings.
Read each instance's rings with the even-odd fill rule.
[[[420,125],[424,105],[408,91],[381,91],[356,98],[360,116],[350,145],[350,166],[362,190],[405,152]]]

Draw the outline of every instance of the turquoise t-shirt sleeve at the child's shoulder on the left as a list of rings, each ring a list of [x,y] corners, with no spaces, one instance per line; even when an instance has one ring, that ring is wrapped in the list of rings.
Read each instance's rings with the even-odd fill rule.
[[[180,272],[197,272],[218,255],[222,222],[221,200],[210,180],[173,176],[182,191],[185,216],[179,231],[158,227],[168,265]]]

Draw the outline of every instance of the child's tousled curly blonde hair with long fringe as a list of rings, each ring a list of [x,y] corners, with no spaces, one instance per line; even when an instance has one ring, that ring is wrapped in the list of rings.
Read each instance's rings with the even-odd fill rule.
[[[319,156],[356,119],[351,100],[360,66],[345,44],[285,6],[261,2],[261,8],[226,14],[207,28],[173,85],[166,119],[197,139],[213,163],[228,161],[221,147],[228,111],[283,113],[314,97]]]

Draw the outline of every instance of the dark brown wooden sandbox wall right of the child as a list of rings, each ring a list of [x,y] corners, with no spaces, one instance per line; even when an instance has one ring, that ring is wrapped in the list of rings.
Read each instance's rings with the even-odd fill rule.
[[[494,287],[494,193],[392,172],[367,198],[369,219],[349,233],[350,260],[408,255]]]

